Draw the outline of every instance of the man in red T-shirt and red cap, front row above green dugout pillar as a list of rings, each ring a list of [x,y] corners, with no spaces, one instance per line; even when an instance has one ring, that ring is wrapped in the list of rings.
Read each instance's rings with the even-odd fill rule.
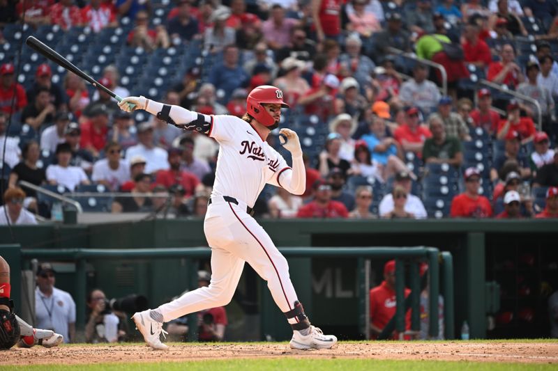
[[[481,173],[476,168],[465,170],[465,192],[451,201],[452,218],[488,218],[492,216],[492,206],[485,196],[478,194],[481,187]]]

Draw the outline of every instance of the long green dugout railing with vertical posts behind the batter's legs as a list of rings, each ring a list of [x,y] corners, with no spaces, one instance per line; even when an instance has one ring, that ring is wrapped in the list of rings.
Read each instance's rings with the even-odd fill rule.
[[[419,265],[428,262],[428,292],[429,292],[429,326],[428,335],[432,338],[439,333],[439,307],[440,292],[444,297],[444,323],[453,324],[453,258],[451,253],[440,253],[433,247],[284,247],[279,248],[286,258],[357,258],[357,275],[359,291],[359,328],[365,338],[370,338],[370,259],[395,259],[395,296],[397,306],[393,321],[395,330],[405,333],[405,266],[409,267],[409,294],[410,308],[412,308],[411,331],[420,330],[420,295],[421,277]],[[22,249],[19,245],[0,245],[2,255],[13,267],[29,267],[32,259],[51,261],[75,262],[75,302],[77,304],[77,329],[84,329],[85,303],[86,303],[86,262],[93,260],[118,260],[118,259],[163,259],[185,258],[186,268],[189,272],[189,287],[197,287],[197,267],[199,259],[209,258],[211,249],[197,248],[137,248],[137,249],[97,249],[97,248],[56,248],[56,249]],[[440,269],[440,265],[442,269]],[[15,270],[15,269],[14,269]],[[13,292],[21,292],[20,276],[12,274]],[[440,285],[442,283],[442,285]],[[297,284],[297,286],[300,283]],[[267,290],[262,285],[262,290]],[[15,298],[17,307],[20,307],[20,298]],[[262,323],[266,321],[266,313],[262,312]],[[197,339],[197,318],[195,313],[189,315],[188,340]],[[444,326],[444,336],[447,339],[455,338],[453,326]]]

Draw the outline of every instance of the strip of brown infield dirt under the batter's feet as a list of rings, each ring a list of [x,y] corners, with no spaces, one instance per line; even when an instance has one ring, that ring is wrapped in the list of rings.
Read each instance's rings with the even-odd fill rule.
[[[557,363],[558,342],[340,342],[333,349],[294,351],[286,343],[170,345],[167,352],[144,345],[76,345],[1,352],[2,365],[199,361],[224,358],[374,358],[430,361]]]

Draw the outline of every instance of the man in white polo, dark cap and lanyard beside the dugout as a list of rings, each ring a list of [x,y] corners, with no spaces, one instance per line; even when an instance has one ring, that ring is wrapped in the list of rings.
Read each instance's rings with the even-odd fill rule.
[[[64,342],[73,342],[75,339],[75,302],[68,292],[54,287],[55,273],[50,263],[42,263],[37,269],[36,327],[61,334]]]

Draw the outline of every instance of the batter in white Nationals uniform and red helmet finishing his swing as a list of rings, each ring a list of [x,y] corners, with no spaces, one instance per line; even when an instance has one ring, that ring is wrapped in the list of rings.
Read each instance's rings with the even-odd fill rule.
[[[244,262],[267,281],[273,300],[292,326],[293,349],[326,349],[337,342],[335,336],[326,336],[310,324],[289,278],[287,260],[251,216],[252,206],[266,183],[296,195],[303,194],[306,188],[296,133],[280,130],[286,138],[282,145],[292,154],[292,167],[266,143],[269,132],[279,125],[281,108],[288,107],[282,97],[282,91],[275,86],[258,86],[248,95],[243,118],[204,115],[145,97],[127,97],[119,103],[124,111],[144,109],[167,123],[204,133],[220,145],[215,184],[204,221],[204,233],[212,251],[211,282],[209,287],[187,292],[155,310],[133,315],[137,329],[153,349],[167,349],[160,341],[160,334],[166,333],[163,322],[229,303]]]

